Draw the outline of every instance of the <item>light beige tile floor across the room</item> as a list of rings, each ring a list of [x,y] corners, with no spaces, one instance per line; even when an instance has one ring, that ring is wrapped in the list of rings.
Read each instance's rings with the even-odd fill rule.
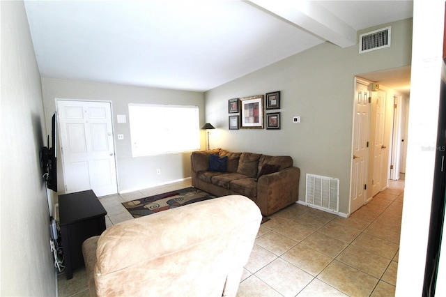
[[[350,218],[293,204],[261,224],[237,296],[394,296],[404,181],[389,181]],[[122,202],[190,180],[101,197],[107,227],[133,217]],[[85,269],[58,277],[59,296],[89,296]]]

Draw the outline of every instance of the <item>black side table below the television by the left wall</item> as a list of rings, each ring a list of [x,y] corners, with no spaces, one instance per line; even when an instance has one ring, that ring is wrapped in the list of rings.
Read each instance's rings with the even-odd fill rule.
[[[67,280],[84,266],[82,243],[105,231],[105,211],[93,190],[59,195],[59,226]]]

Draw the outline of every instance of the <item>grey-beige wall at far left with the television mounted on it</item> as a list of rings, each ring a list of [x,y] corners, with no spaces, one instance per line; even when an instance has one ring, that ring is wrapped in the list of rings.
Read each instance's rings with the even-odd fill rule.
[[[40,75],[22,1],[1,9],[1,296],[55,296]],[[45,141],[44,141],[45,140]]]

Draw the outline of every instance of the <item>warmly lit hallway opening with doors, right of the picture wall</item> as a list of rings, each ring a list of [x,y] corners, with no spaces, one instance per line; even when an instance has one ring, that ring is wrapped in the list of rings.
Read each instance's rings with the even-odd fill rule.
[[[406,167],[406,144],[408,105],[410,99],[410,66],[382,70],[359,75],[362,84],[369,90],[369,114],[366,130],[357,130],[353,121],[353,146],[358,139],[367,139],[367,155],[364,162],[364,198],[360,201],[353,195],[357,180],[355,148],[352,148],[352,177],[350,213],[367,204],[375,195],[389,188],[391,181],[401,179]],[[357,78],[358,79],[358,78]],[[357,79],[355,79],[357,81]],[[357,88],[355,84],[355,101]],[[363,87],[363,86],[362,86]],[[356,103],[356,102],[355,102]],[[357,106],[355,104],[355,113]]]

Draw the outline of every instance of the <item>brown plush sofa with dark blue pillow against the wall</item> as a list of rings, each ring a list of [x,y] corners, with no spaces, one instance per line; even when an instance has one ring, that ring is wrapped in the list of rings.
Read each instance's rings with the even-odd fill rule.
[[[216,196],[249,197],[262,215],[275,213],[299,199],[300,169],[293,167],[289,156],[231,153],[216,148],[192,152],[191,162],[192,186]],[[212,162],[217,162],[217,168]]]

